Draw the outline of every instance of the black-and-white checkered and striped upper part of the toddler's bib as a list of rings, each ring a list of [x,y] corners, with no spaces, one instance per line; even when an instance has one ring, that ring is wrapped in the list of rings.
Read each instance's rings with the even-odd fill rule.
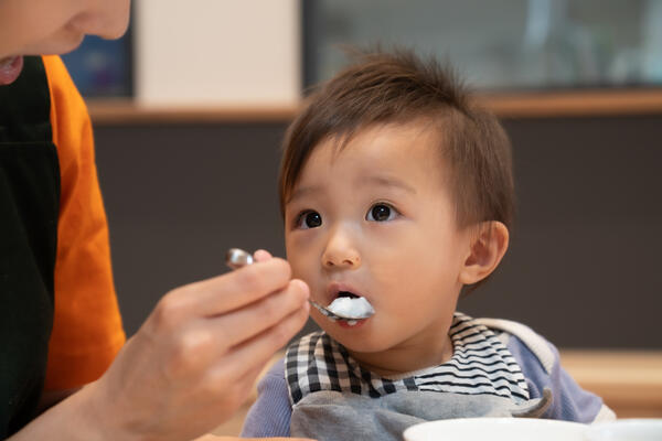
[[[324,332],[293,343],[286,354],[286,379],[290,404],[320,390],[337,390],[378,398],[398,390],[494,395],[528,400],[526,380],[517,362],[496,335],[483,324],[456,313],[449,336],[450,361],[397,378],[363,369],[346,348]]]

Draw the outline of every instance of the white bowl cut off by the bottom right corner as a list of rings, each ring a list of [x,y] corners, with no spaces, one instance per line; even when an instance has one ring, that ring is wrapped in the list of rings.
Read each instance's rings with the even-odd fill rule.
[[[662,419],[622,419],[598,422],[586,431],[587,441],[660,441]]]

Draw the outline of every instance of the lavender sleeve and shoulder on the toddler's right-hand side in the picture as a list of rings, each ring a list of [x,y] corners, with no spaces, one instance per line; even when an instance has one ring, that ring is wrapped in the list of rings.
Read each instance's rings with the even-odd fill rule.
[[[542,397],[544,388],[552,390],[552,406],[542,418],[590,423],[600,419],[598,417],[601,417],[605,411],[610,411],[604,406],[600,397],[579,387],[560,366],[556,347],[549,342],[546,344],[554,356],[554,363],[548,369],[520,338],[511,335],[508,342],[509,351],[520,364],[526,378],[531,398]]]

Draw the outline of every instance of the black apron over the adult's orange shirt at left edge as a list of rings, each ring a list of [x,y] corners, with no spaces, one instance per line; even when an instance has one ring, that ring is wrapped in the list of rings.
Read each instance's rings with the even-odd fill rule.
[[[0,439],[34,416],[53,324],[60,166],[41,57],[0,87]]]

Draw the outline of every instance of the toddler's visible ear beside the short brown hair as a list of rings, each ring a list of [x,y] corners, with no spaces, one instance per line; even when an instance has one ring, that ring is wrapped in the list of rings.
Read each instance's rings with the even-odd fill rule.
[[[500,222],[484,222],[472,237],[469,256],[460,270],[460,282],[473,284],[490,276],[508,249],[508,227]]]

